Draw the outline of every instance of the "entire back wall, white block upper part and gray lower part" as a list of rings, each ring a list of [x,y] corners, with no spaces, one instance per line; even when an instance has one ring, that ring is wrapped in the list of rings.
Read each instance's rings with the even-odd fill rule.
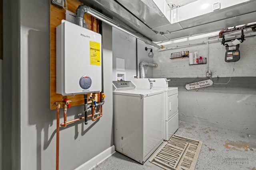
[[[218,33],[218,32],[217,32]],[[216,34],[216,33],[215,33]],[[216,34],[217,35],[217,34]],[[172,41],[165,47],[207,40],[209,35]],[[218,37],[213,37],[215,39]],[[193,40],[190,40],[193,39]],[[207,57],[207,45],[197,45],[173,50],[158,51],[154,48],[154,78],[169,78],[169,86],[179,88],[179,119],[191,123],[209,125],[233,131],[256,134],[256,37],[246,37],[240,44],[240,60],[226,63],[225,47],[218,43],[209,43],[208,69],[212,71],[214,84],[207,88],[186,90],[191,82],[206,80],[207,65],[189,66],[189,59],[171,60],[170,55],[179,51],[198,51],[198,56]],[[180,40],[179,40],[180,41]]]

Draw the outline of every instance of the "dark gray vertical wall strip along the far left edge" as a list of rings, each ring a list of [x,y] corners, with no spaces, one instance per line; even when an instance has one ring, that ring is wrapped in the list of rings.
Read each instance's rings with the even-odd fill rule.
[[[3,169],[20,169],[20,1],[3,0]],[[12,11],[10,13],[10,11]]]

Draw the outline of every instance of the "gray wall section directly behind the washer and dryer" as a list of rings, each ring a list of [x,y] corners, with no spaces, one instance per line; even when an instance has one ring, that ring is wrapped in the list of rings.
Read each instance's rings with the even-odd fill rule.
[[[136,69],[138,69],[138,76],[140,76],[139,64],[142,61],[153,63],[153,58],[148,57],[150,50],[146,51],[145,47],[152,48],[146,45],[143,41],[137,40],[137,55],[138,68],[136,68],[136,38],[124,33],[116,28],[113,28],[113,81],[116,80],[116,72],[124,72],[126,80],[131,80],[136,76]],[[125,71],[116,70],[116,57],[125,59]],[[145,67],[146,77],[153,77],[153,68]]]

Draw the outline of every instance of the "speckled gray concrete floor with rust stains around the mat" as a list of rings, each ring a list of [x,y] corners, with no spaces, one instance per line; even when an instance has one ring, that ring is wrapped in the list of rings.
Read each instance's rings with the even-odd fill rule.
[[[203,142],[196,169],[256,170],[256,135],[197,125],[180,121],[177,135]],[[233,159],[244,159],[244,162]],[[230,161],[232,160],[232,161]],[[148,160],[144,165],[116,152],[96,170],[161,170]]]

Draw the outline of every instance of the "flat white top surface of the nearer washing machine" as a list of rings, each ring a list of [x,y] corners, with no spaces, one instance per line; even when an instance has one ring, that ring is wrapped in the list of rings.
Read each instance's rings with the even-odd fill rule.
[[[119,94],[124,96],[134,96],[134,97],[148,97],[156,94],[161,94],[163,91],[161,90],[142,90],[142,89],[134,89],[134,90],[123,90],[118,92],[113,92],[113,94]]]

